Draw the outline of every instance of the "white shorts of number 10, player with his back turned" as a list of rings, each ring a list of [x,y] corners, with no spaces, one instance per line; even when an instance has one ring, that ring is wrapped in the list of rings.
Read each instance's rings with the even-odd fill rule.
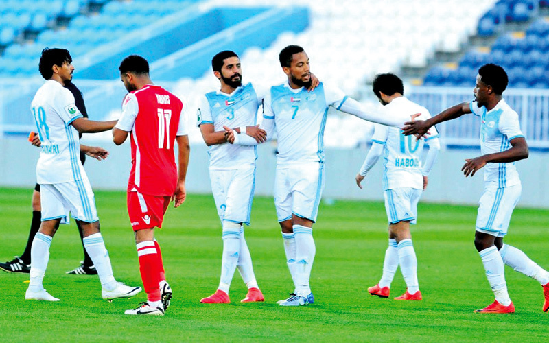
[[[422,189],[411,187],[401,187],[395,189],[387,189],[383,192],[385,198],[385,211],[389,224],[396,224],[409,220],[410,224],[417,222],[417,203]]]

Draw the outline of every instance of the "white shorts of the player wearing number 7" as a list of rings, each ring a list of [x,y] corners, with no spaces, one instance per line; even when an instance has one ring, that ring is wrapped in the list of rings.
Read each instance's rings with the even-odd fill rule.
[[[279,222],[289,220],[292,213],[316,222],[324,190],[324,174],[324,165],[320,163],[277,167],[274,205],[277,206]]]

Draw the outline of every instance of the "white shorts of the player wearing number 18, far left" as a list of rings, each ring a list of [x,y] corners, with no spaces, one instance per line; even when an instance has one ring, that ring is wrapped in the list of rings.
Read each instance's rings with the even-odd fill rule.
[[[40,184],[42,221],[61,218],[61,224],[69,224],[69,212],[75,220],[93,223],[99,220],[95,208],[95,196],[88,178],[82,180]]]

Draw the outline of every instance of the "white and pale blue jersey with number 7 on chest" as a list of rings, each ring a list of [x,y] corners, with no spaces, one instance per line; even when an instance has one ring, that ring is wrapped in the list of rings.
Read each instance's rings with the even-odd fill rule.
[[[277,131],[277,167],[324,162],[324,128],[328,107],[340,107],[347,96],[320,82],[314,91],[292,89],[288,82],[272,86],[264,100],[264,124]]]

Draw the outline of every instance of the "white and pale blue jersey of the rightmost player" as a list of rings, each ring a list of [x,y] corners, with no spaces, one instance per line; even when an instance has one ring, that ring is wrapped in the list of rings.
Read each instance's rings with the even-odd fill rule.
[[[480,117],[480,151],[482,155],[504,152],[511,148],[511,139],[524,137],[520,130],[519,115],[501,99],[494,108],[478,107],[471,102],[471,111]],[[520,183],[515,162],[487,163],[484,166],[484,183],[498,188]]]

